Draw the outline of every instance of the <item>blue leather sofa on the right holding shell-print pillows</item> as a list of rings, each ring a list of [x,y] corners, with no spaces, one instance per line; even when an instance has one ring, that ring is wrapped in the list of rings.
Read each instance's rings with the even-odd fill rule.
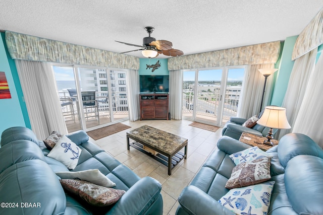
[[[183,189],[176,214],[230,214],[218,202],[229,189],[225,184],[235,164],[229,155],[250,146],[223,136],[196,174]],[[275,181],[267,214],[323,214],[323,150],[308,136],[290,133],[267,151],[271,160],[271,181]]]

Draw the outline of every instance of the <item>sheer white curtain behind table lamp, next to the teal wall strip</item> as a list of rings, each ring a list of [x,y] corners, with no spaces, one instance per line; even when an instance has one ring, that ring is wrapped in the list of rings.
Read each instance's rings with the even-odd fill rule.
[[[304,94],[308,85],[308,79],[315,65],[317,48],[297,58],[289,79],[287,91],[282,106],[286,108],[286,116],[291,129],[282,129],[277,132],[280,139],[286,133],[293,130],[296,117],[303,102]]]

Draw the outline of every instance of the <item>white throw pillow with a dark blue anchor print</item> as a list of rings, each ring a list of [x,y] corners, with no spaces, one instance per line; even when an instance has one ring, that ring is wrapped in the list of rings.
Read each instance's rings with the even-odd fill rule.
[[[63,163],[70,170],[74,170],[79,161],[81,151],[72,140],[63,135],[47,157]]]

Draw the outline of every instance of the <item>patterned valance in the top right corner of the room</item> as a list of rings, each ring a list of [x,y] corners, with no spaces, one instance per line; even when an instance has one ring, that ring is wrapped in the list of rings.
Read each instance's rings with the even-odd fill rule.
[[[316,14],[312,21],[299,34],[294,45],[292,60],[323,43],[323,9]]]

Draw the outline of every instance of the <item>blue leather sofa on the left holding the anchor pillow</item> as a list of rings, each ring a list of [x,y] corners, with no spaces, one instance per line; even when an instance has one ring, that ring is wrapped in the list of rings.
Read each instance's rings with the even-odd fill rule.
[[[69,171],[47,157],[43,141],[25,127],[6,129],[0,148],[0,214],[162,214],[161,184],[151,177],[139,178],[128,167],[105,153],[84,131],[68,137],[81,149],[73,171],[99,169],[126,193],[113,205],[90,206],[64,192],[55,172]]]

